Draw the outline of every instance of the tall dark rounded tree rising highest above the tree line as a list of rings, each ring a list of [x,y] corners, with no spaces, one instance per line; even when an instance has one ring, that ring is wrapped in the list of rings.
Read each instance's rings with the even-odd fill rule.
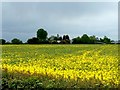
[[[47,38],[47,31],[45,31],[44,29],[38,29],[37,31],[37,38],[40,40],[40,41],[45,41],[46,38]]]

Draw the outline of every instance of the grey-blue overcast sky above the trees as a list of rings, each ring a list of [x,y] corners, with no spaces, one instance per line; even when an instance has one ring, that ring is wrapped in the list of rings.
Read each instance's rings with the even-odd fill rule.
[[[117,2],[4,2],[2,38],[27,41],[39,28],[51,35],[83,34],[118,39]]]

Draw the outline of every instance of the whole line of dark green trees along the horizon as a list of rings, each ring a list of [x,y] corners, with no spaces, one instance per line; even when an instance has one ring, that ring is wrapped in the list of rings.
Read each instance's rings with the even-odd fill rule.
[[[57,34],[57,36],[50,36],[49,38],[47,35],[47,31],[41,28],[37,31],[37,37],[29,38],[25,43],[18,38],[14,38],[11,42],[0,39],[0,44],[111,44],[113,42],[107,36],[98,38],[95,35],[88,36],[87,34],[83,34],[81,37],[78,36],[70,40],[69,35],[59,36],[59,34]]]

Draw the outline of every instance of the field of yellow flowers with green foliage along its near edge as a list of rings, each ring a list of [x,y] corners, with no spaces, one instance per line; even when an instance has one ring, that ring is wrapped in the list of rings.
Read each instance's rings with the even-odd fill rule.
[[[3,88],[119,87],[118,45],[0,47]]]

